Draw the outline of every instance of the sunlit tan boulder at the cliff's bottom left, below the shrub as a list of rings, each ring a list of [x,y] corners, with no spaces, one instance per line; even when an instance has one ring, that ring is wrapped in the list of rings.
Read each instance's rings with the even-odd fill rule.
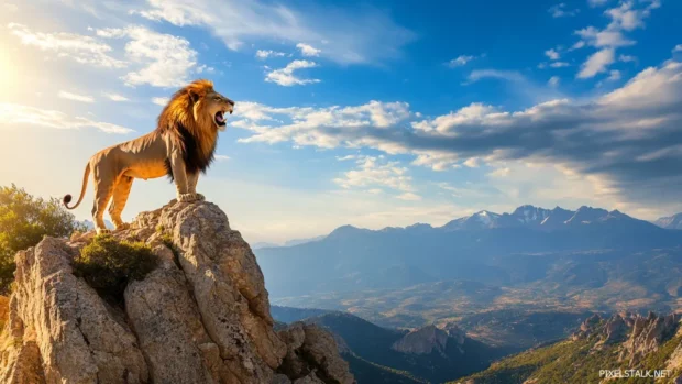
[[[72,274],[74,254],[65,241],[52,238],[16,254],[6,330],[19,351],[6,353],[24,360],[3,361],[0,377],[4,383],[31,382],[28,377],[35,374],[46,383],[146,382],[135,336],[95,289]],[[23,364],[42,370],[30,372]]]

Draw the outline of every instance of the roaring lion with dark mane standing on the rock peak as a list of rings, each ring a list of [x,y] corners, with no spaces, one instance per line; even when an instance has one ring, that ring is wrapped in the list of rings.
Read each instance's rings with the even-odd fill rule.
[[[197,194],[199,173],[206,173],[216,152],[218,131],[224,131],[226,112],[232,114],[234,101],[213,90],[209,80],[196,80],[173,95],[158,116],[158,125],[135,140],[96,153],[88,162],[80,197],[69,207],[72,195],[64,196],[67,209],[82,201],[90,171],[95,184],[92,219],[97,233],[109,230],[105,226],[105,210],[116,230],[130,228],[121,220],[135,178],[170,177],[177,189],[178,201],[202,200]]]

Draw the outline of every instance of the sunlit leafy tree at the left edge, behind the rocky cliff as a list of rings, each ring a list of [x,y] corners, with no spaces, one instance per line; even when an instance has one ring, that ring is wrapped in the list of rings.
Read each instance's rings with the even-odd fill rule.
[[[44,200],[12,184],[0,186],[0,294],[14,281],[14,254],[43,237],[63,238],[85,230],[58,199]]]

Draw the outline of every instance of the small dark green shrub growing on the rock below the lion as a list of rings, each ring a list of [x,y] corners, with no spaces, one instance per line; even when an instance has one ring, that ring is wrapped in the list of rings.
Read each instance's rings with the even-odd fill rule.
[[[142,242],[96,237],[74,260],[74,274],[100,295],[121,301],[131,281],[143,279],[158,265],[158,257]]]

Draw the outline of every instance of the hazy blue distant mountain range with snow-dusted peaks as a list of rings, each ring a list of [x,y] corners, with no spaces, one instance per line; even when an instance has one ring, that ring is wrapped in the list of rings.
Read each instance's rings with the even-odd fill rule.
[[[636,253],[680,245],[682,231],[617,210],[521,206],[512,213],[480,211],[442,227],[420,223],[369,230],[343,226],[314,242],[258,249],[256,256],[268,290],[278,298],[396,289],[451,279],[504,285],[514,279],[512,271],[518,268],[505,260],[514,254],[525,255],[515,260],[527,260],[540,253]],[[541,260],[540,264],[546,262]],[[530,274],[547,272],[538,272],[537,265],[528,267]]]

